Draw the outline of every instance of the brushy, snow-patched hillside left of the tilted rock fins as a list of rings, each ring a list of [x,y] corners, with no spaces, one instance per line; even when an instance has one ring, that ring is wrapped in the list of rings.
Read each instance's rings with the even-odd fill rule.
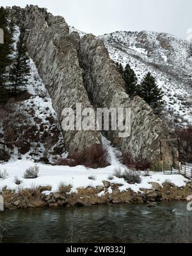
[[[13,37],[15,51],[19,35],[16,26]],[[31,71],[26,88],[20,88],[26,92],[19,99],[10,99],[1,109],[0,162],[18,158],[54,162],[64,151],[63,135],[51,98],[31,59],[29,67]]]

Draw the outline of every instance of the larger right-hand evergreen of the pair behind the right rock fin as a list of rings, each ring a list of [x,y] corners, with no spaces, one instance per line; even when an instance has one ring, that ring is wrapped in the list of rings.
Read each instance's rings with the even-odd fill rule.
[[[161,112],[163,105],[163,92],[156,84],[155,78],[148,73],[138,87],[138,96],[144,99],[150,107],[154,109],[155,114]]]

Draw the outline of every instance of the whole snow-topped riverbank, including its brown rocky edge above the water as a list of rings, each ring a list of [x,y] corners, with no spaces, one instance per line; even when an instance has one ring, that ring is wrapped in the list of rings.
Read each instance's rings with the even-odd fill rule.
[[[6,170],[6,176],[0,178],[5,210],[153,203],[186,200],[192,194],[192,183],[182,175],[132,172],[117,160],[98,169],[36,164],[36,178],[26,178],[26,170],[34,166],[29,160],[0,164],[1,173]]]

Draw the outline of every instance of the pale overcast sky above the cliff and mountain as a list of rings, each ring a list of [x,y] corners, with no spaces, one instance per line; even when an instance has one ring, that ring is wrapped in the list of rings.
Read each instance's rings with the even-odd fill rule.
[[[151,30],[182,38],[192,28],[191,0],[1,0],[3,6],[37,4],[78,30],[102,35]],[[190,30],[189,30],[190,31]]]

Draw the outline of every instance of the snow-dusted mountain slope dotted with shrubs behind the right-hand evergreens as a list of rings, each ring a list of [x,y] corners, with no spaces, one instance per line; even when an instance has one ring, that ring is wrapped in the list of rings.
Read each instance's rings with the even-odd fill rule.
[[[187,40],[150,31],[117,31],[99,38],[112,60],[131,65],[139,82],[148,72],[156,77],[170,128],[192,123],[192,54]]]

